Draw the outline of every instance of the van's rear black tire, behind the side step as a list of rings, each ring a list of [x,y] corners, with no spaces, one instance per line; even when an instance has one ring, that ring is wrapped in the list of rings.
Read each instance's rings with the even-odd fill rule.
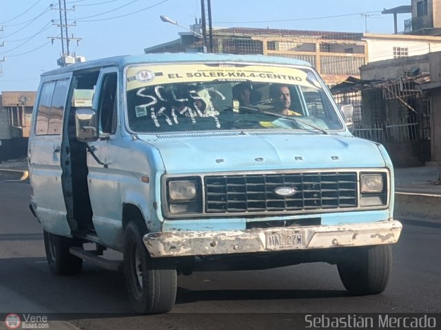
[[[72,246],[82,246],[77,239],[50,234],[43,230],[44,248],[50,272],[55,275],[76,275],[81,272],[83,259],[69,253]]]

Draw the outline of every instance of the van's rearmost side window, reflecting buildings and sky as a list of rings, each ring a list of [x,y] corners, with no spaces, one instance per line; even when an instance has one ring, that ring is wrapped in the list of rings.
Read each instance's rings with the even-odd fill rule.
[[[63,113],[70,80],[58,80],[43,85],[37,110],[36,135],[61,134]]]

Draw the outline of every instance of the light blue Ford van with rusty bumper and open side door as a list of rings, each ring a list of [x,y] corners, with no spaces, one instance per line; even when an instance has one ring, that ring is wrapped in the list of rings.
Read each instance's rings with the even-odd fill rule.
[[[323,261],[349,293],[378,294],[402,228],[393,168],[350,125],[351,107],[289,58],[146,54],[47,72],[28,159],[50,270],[122,264],[141,313],[170,311],[177,275],[208,267]]]

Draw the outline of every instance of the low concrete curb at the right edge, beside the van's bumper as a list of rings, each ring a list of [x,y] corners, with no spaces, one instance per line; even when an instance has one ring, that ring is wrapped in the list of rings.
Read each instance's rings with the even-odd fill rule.
[[[441,223],[441,195],[396,192],[394,218]]]

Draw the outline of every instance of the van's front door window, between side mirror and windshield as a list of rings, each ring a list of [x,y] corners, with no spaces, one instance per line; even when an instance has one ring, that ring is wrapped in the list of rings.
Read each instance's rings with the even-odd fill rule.
[[[116,132],[116,77],[116,73],[106,74],[99,94],[98,113],[100,131],[103,133],[114,134]]]

